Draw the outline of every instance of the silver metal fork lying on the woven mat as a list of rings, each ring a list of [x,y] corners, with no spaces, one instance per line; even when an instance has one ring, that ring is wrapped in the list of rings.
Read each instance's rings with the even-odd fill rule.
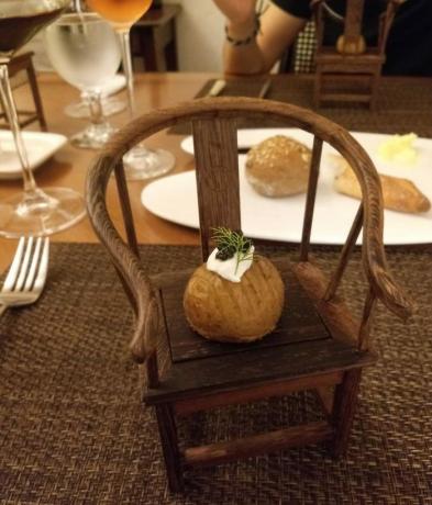
[[[11,306],[29,305],[41,295],[48,270],[49,238],[21,237],[0,292],[0,316]]]

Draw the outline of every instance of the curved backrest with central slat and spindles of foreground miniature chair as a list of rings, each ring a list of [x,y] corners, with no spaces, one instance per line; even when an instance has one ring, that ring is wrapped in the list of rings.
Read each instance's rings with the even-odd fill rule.
[[[353,167],[363,199],[342,257],[355,244],[363,226],[363,263],[373,296],[380,299],[395,314],[406,317],[411,306],[387,271],[383,247],[383,197],[377,171],[363,147],[342,126],[312,111],[286,103],[248,98],[213,98],[186,102],[153,111],[114,135],[90,168],[87,178],[87,209],[97,235],[106,245],[123,279],[136,310],[137,324],[132,350],[139,361],[154,356],[157,323],[156,294],[140,262],[128,187],[122,166],[123,155],[135,144],[178,123],[190,122],[193,131],[202,258],[209,255],[212,227],[241,227],[236,120],[278,120],[286,126],[314,135],[312,161],[304,211],[300,261],[308,261],[310,232],[319,176],[322,143],[328,142]],[[121,238],[108,214],[106,189],[115,170],[128,243]],[[340,268],[329,287],[334,293],[342,277]],[[333,293],[332,293],[333,291]]]

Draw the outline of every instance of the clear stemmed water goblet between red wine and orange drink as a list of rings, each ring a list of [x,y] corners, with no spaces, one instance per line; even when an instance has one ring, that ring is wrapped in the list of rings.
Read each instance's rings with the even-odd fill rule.
[[[86,90],[91,124],[74,135],[71,144],[100,149],[114,132],[103,115],[101,87],[120,66],[115,33],[95,12],[69,13],[46,29],[45,42],[49,60],[63,79]]]

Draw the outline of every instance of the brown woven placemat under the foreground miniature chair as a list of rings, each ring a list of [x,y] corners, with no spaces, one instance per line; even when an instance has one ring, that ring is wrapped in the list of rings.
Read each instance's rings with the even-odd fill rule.
[[[191,247],[142,250],[151,272],[199,261]],[[334,249],[315,256],[334,265]],[[366,370],[346,457],[308,447],[196,469],[185,496],[170,496],[113,269],[100,246],[53,244],[40,302],[0,321],[0,503],[431,504],[431,250],[395,248],[389,263],[419,313],[406,326],[379,306],[379,361]],[[356,251],[343,285],[354,310],[365,290],[359,269]],[[313,416],[313,401],[299,394],[199,415],[180,434],[226,439]]]

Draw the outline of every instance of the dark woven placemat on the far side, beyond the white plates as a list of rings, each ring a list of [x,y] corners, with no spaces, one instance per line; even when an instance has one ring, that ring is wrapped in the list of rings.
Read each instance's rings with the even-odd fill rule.
[[[214,79],[208,81],[197,98],[204,97],[213,82]],[[262,85],[261,78],[228,80],[221,97],[257,97]],[[312,79],[275,76],[266,99],[313,109],[312,97]],[[432,137],[432,79],[414,79],[409,83],[395,78],[384,79],[378,87],[378,104],[375,113],[362,104],[322,106],[317,112],[352,131],[388,134],[416,132],[420,136]],[[239,127],[269,126],[280,126],[280,123],[239,123]],[[190,127],[184,123],[173,127],[170,133],[188,135]]]

